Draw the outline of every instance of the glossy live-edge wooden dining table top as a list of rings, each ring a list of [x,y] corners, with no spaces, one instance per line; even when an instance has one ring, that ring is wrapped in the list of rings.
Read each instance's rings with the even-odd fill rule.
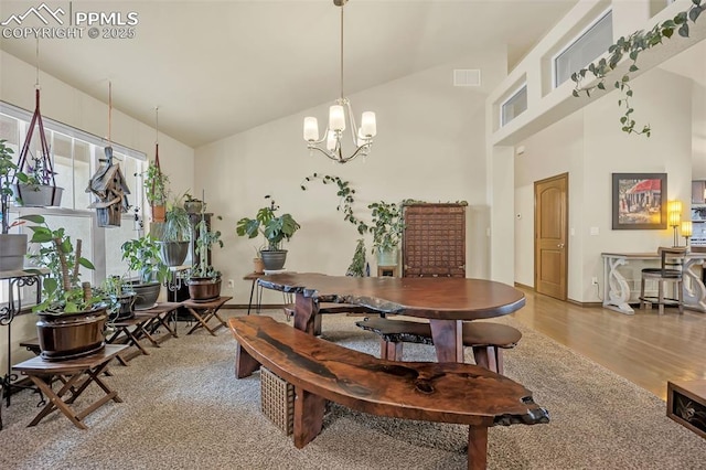
[[[502,317],[525,305],[514,287],[484,279],[395,278],[279,274],[260,286],[300,293],[319,302],[353,303],[384,313],[445,320]]]

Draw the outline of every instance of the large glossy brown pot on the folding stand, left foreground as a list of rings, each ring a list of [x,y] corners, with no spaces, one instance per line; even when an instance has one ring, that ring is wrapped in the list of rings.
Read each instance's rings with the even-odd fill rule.
[[[41,356],[47,361],[66,361],[98,352],[105,348],[106,308],[78,313],[38,313],[36,334]]]

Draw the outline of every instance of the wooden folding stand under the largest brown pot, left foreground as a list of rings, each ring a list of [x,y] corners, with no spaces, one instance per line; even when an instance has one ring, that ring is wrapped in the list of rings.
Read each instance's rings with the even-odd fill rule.
[[[28,361],[14,365],[18,372],[30,377],[30,380],[41,389],[47,399],[44,408],[28,425],[36,426],[45,416],[58,409],[71,420],[74,426],[81,429],[87,429],[83,419],[108,403],[114,400],[121,403],[118,393],[110,389],[105,382],[100,380],[100,374],[108,366],[108,363],[128,345],[106,344],[103,351],[85,357],[72,359],[68,361],[45,361],[41,357],[32,357]],[[62,386],[57,392],[52,388],[52,377],[57,377],[62,382]],[[85,389],[95,383],[105,392],[105,396],[89,405],[83,412],[76,413],[69,405],[85,392]]]

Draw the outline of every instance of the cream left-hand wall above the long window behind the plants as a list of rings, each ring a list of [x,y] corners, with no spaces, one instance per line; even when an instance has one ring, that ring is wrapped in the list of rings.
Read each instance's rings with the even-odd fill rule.
[[[0,51],[0,99],[30,111],[34,110],[35,74],[34,66]],[[43,117],[96,136],[107,136],[108,106],[106,104],[44,73],[40,74],[40,84]],[[114,83],[114,86],[119,84]],[[107,96],[107,81],[105,87]],[[143,151],[148,158],[153,159],[156,130],[120,113],[119,106],[119,103],[114,103],[113,141]],[[153,107],[154,104],[146,103],[145,106]],[[169,174],[174,191],[183,192],[193,188],[194,151],[192,148],[160,135],[160,163],[163,171]],[[12,361],[17,363],[32,355],[17,348],[17,344],[22,340],[36,337],[35,321],[36,318],[33,314],[26,314],[17,318],[11,327],[0,327],[0,351],[3,352],[0,374],[4,374],[7,368],[4,352],[8,344],[4,329],[12,328]]]

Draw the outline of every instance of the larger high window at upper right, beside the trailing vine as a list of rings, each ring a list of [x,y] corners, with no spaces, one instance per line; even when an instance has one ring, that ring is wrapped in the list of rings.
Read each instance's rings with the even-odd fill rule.
[[[608,52],[612,43],[613,15],[609,10],[554,57],[554,87]]]

